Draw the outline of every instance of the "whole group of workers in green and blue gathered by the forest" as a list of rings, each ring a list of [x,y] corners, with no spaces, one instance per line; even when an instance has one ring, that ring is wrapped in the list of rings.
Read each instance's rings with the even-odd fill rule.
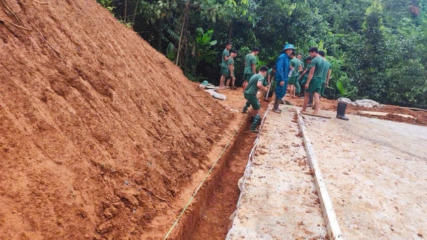
[[[231,47],[232,43],[228,42],[223,51],[220,88],[229,87],[231,83],[231,89],[235,90],[237,88],[234,57],[238,52],[230,51]],[[325,59],[325,52],[319,51],[317,47],[310,47],[308,52],[310,55],[305,58],[307,67],[304,69],[304,62],[301,60],[303,55],[296,54],[294,45],[286,44],[276,64],[270,69],[261,66],[258,73],[256,73],[256,55],[259,53],[259,48],[254,47],[245,56],[242,89],[246,104],[243,106],[242,113],[247,113],[248,108],[252,106],[254,116],[250,127],[251,132],[258,132],[256,126],[260,120],[261,108],[257,98],[258,91],[265,91],[263,98],[266,101],[269,101],[274,91],[273,112],[275,113],[281,113],[279,105],[284,104],[284,96],[287,92],[291,98],[304,96],[302,112],[305,112],[308,106],[313,106],[314,114],[319,113],[320,98],[329,84],[331,64]],[[226,79],[227,82],[224,85]],[[302,89],[301,86],[303,86]]]

